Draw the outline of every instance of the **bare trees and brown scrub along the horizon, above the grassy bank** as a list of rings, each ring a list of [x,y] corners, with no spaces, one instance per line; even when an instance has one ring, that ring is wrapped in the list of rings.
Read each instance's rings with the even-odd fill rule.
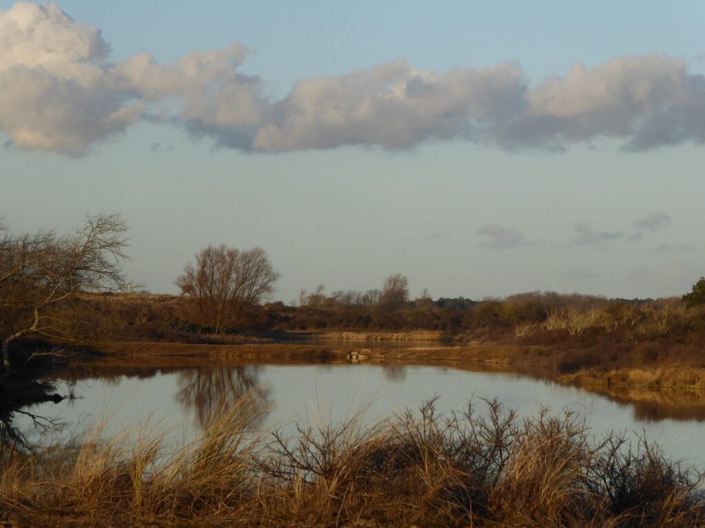
[[[608,299],[534,291],[482,301],[411,298],[408,279],[379,289],[302,289],[268,303],[279,273],[264,249],[207,246],[176,277],[179,296],[125,293],[127,226],[119,215],[89,216],[73,234],[14,234],[0,222],[0,341],[4,367],[13,341],[106,339],[227,341],[294,331],[435,331],[443,339],[518,344],[669,339],[705,335],[705,279],[682,298]]]

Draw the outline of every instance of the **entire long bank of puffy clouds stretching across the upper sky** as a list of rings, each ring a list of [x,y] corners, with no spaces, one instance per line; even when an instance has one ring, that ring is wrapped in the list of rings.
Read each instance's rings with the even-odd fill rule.
[[[400,59],[303,79],[272,101],[259,77],[240,73],[250,51],[238,43],[168,64],[151,54],[111,63],[109,51],[96,27],[56,4],[0,11],[0,132],[19,149],[71,156],[140,120],[259,152],[451,139],[565,149],[601,137],[640,151],[705,140],[705,78],[661,54],[577,63],[534,87],[518,63],[436,72]]]

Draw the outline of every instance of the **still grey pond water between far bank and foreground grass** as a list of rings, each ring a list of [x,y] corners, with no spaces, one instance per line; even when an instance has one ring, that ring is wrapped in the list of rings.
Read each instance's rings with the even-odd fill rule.
[[[193,363],[193,362],[192,362]],[[438,396],[442,412],[463,410],[469,398],[497,398],[520,415],[548,406],[573,410],[596,435],[610,431],[646,436],[668,455],[705,466],[705,404],[701,395],[601,395],[556,382],[498,372],[472,372],[442,366],[365,364],[242,365],[209,361],[207,366],[144,367],[112,364],[63,372],[56,381],[59,403],[31,412],[63,424],[37,429],[16,416],[18,427],[36,444],[80,438],[96,422],[105,434],[147,425],[155,434],[200,432],[214,406],[255,395],[257,429],[291,431],[295,425],[339,422],[356,413],[376,422]]]

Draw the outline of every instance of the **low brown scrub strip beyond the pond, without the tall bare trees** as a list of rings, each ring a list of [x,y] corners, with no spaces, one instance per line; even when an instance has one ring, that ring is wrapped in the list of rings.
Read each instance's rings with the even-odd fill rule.
[[[307,295],[300,306],[282,302],[243,308],[238,325],[215,334],[183,296],[102,294],[84,296],[90,318],[125,340],[202,342],[261,332],[439,332],[441,339],[517,344],[689,339],[705,336],[705,309],[682,298],[608,299],[532,292],[502,299],[428,296],[391,306],[341,292]],[[75,306],[75,305],[74,305]]]

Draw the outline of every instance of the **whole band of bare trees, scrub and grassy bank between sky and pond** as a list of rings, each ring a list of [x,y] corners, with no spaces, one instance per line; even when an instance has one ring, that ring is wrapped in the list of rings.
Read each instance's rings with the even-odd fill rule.
[[[182,296],[154,296],[116,293],[127,284],[120,267],[125,225],[116,215],[90,217],[67,237],[2,233],[6,365],[11,344],[21,337],[250,344],[325,332],[369,341],[433,336],[472,345],[462,353],[446,351],[448,359],[552,367],[583,384],[705,385],[705,279],[683,299],[534,292],[434,301],[425,291],[410,300],[406,277],[396,274],[382,289],[325,294],[319,286],[312,294],[302,290],[299,306],[262,306],[278,273],[259,248],[209,246],[177,279]]]

